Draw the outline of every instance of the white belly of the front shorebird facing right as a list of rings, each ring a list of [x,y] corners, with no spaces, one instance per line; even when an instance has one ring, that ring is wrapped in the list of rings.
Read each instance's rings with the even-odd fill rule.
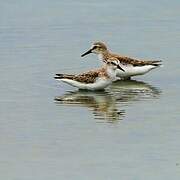
[[[110,79],[98,79],[95,83],[89,84],[81,83],[71,79],[60,79],[60,81],[65,82],[71,86],[77,87],[78,89],[86,89],[91,91],[102,90],[112,83]]]

